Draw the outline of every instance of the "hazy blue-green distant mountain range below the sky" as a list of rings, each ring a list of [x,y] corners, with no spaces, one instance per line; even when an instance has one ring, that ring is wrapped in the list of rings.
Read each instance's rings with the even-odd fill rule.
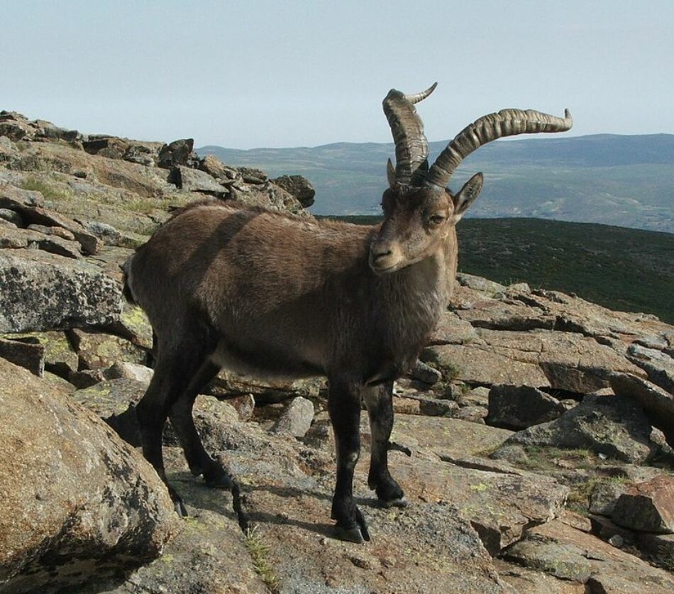
[[[431,159],[447,141],[430,143]],[[334,143],[314,148],[219,146],[197,149],[231,165],[270,175],[299,173],[316,187],[316,214],[375,214],[385,189],[392,143]],[[536,217],[674,233],[674,135],[529,138],[497,141],[470,155],[452,182],[458,189],[485,172],[473,217]]]

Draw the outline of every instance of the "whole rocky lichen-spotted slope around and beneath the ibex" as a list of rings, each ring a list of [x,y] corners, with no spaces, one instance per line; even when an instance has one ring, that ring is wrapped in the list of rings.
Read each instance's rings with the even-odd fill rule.
[[[363,418],[372,541],[333,538],[321,380],[222,375],[199,397],[231,490],[194,480],[167,427],[178,519],[136,449],[151,330],[118,266],[204,194],[300,216],[313,200],[189,140],[0,112],[0,593],[674,590],[674,327],[471,275],[397,383],[405,509],[368,490]]]

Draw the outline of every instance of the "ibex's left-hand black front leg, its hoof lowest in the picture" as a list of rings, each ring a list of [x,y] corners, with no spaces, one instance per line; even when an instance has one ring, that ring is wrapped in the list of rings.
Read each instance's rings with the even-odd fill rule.
[[[337,483],[332,518],[338,538],[353,542],[370,540],[365,518],[353,501],[353,471],[360,454],[360,385],[329,380],[328,411],[337,449]]]

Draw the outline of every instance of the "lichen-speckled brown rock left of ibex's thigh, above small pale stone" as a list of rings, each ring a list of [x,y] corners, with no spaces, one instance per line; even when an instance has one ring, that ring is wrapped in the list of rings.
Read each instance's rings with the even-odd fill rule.
[[[79,356],[80,369],[104,369],[116,361],[140,364],[147,358],[142,348],[114,334],[73,328],[68,338]]]

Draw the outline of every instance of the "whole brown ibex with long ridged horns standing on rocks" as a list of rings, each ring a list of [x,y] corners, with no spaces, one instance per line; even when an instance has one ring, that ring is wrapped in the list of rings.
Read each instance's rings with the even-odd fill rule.
[[[372,431],[368,484],[382,505],[406,505],[387,466],[393,383],[416,361],[448,306],[457,265],[455,224],[482,188],[477,173],[453,194],[450,177],[485,143],[572,126],[568,111],[564,118],[499,111],[465,128],[429,168],[414,104],[435,87],[414,95],[392,89],[384,99],[396,165],[389,160],[381,224],[197,202],[130,258],[128,288],[156,334],[155,374],[136,411],[145,458],[165,483],[161,439],[168,416],[192,473],[209,485],[231,484],[204,450],[192,419],[199,390],[226,366],[263,378],[327,376],[338,537],[370,539],[353,500],[362,401]],[[184,515],[179,495],[167,487]]]

